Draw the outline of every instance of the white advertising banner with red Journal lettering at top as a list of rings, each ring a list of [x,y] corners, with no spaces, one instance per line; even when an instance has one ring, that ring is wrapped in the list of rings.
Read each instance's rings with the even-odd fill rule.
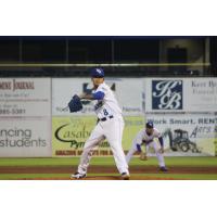
[[[50,78],[0,78],[0,117],[50,115]]]

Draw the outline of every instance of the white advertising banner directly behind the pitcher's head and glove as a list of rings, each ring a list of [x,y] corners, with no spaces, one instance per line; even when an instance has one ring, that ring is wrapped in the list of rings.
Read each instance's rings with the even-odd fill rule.
[[[139,78],[105,78],[114,91],[124,115],[141,115],[144,112],[143,80]],[[92,92],[90,78],[53,78],[52,115],[68,116],[67,103],[74,94]],[[75,115],[94,115],[94,101],[85,101],[84,110]]]

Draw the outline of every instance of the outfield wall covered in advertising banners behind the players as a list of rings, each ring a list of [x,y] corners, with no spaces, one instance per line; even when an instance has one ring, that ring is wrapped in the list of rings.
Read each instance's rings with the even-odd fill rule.
[[[217,152],[216,78],[105,81],[123,108],[126,152],[146,119],[163,132],[165,155],[213,156]],[[93,102],[86,101],[84,110],[74,114],[67,103],[75,93],[91,92],[91,87],[89,78],[0,78],[0,157],[80,155],[97,122]],[[111,155],[108,143],[100,144],[94,154]]]

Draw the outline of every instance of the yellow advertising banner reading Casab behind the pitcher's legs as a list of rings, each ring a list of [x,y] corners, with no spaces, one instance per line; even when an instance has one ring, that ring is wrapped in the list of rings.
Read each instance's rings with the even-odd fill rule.
[[[97,124],[95,116],[53,117],[52,148],[53,156],[77,156],[82,153],[86,140]],[[129,150],[137,132],[144,126],[142,116],[125,116],[123,149]],[[97,156],[112,155],[106,140],[94,151]]]

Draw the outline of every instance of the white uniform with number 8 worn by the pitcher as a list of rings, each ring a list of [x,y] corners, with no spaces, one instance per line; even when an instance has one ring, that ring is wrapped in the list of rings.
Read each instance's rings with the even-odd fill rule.
[[[104,93],[103,100],[98,100],[94,105],[99,122],[85,143],[78,173],[87,173],[93,150],[106,138],[111,145],[118,171],[120,174],[129,174],[128,164],[122,148],[124,130],[122,110],[113,91],[105,82],[101,84],[94,92],[99,91]]]

